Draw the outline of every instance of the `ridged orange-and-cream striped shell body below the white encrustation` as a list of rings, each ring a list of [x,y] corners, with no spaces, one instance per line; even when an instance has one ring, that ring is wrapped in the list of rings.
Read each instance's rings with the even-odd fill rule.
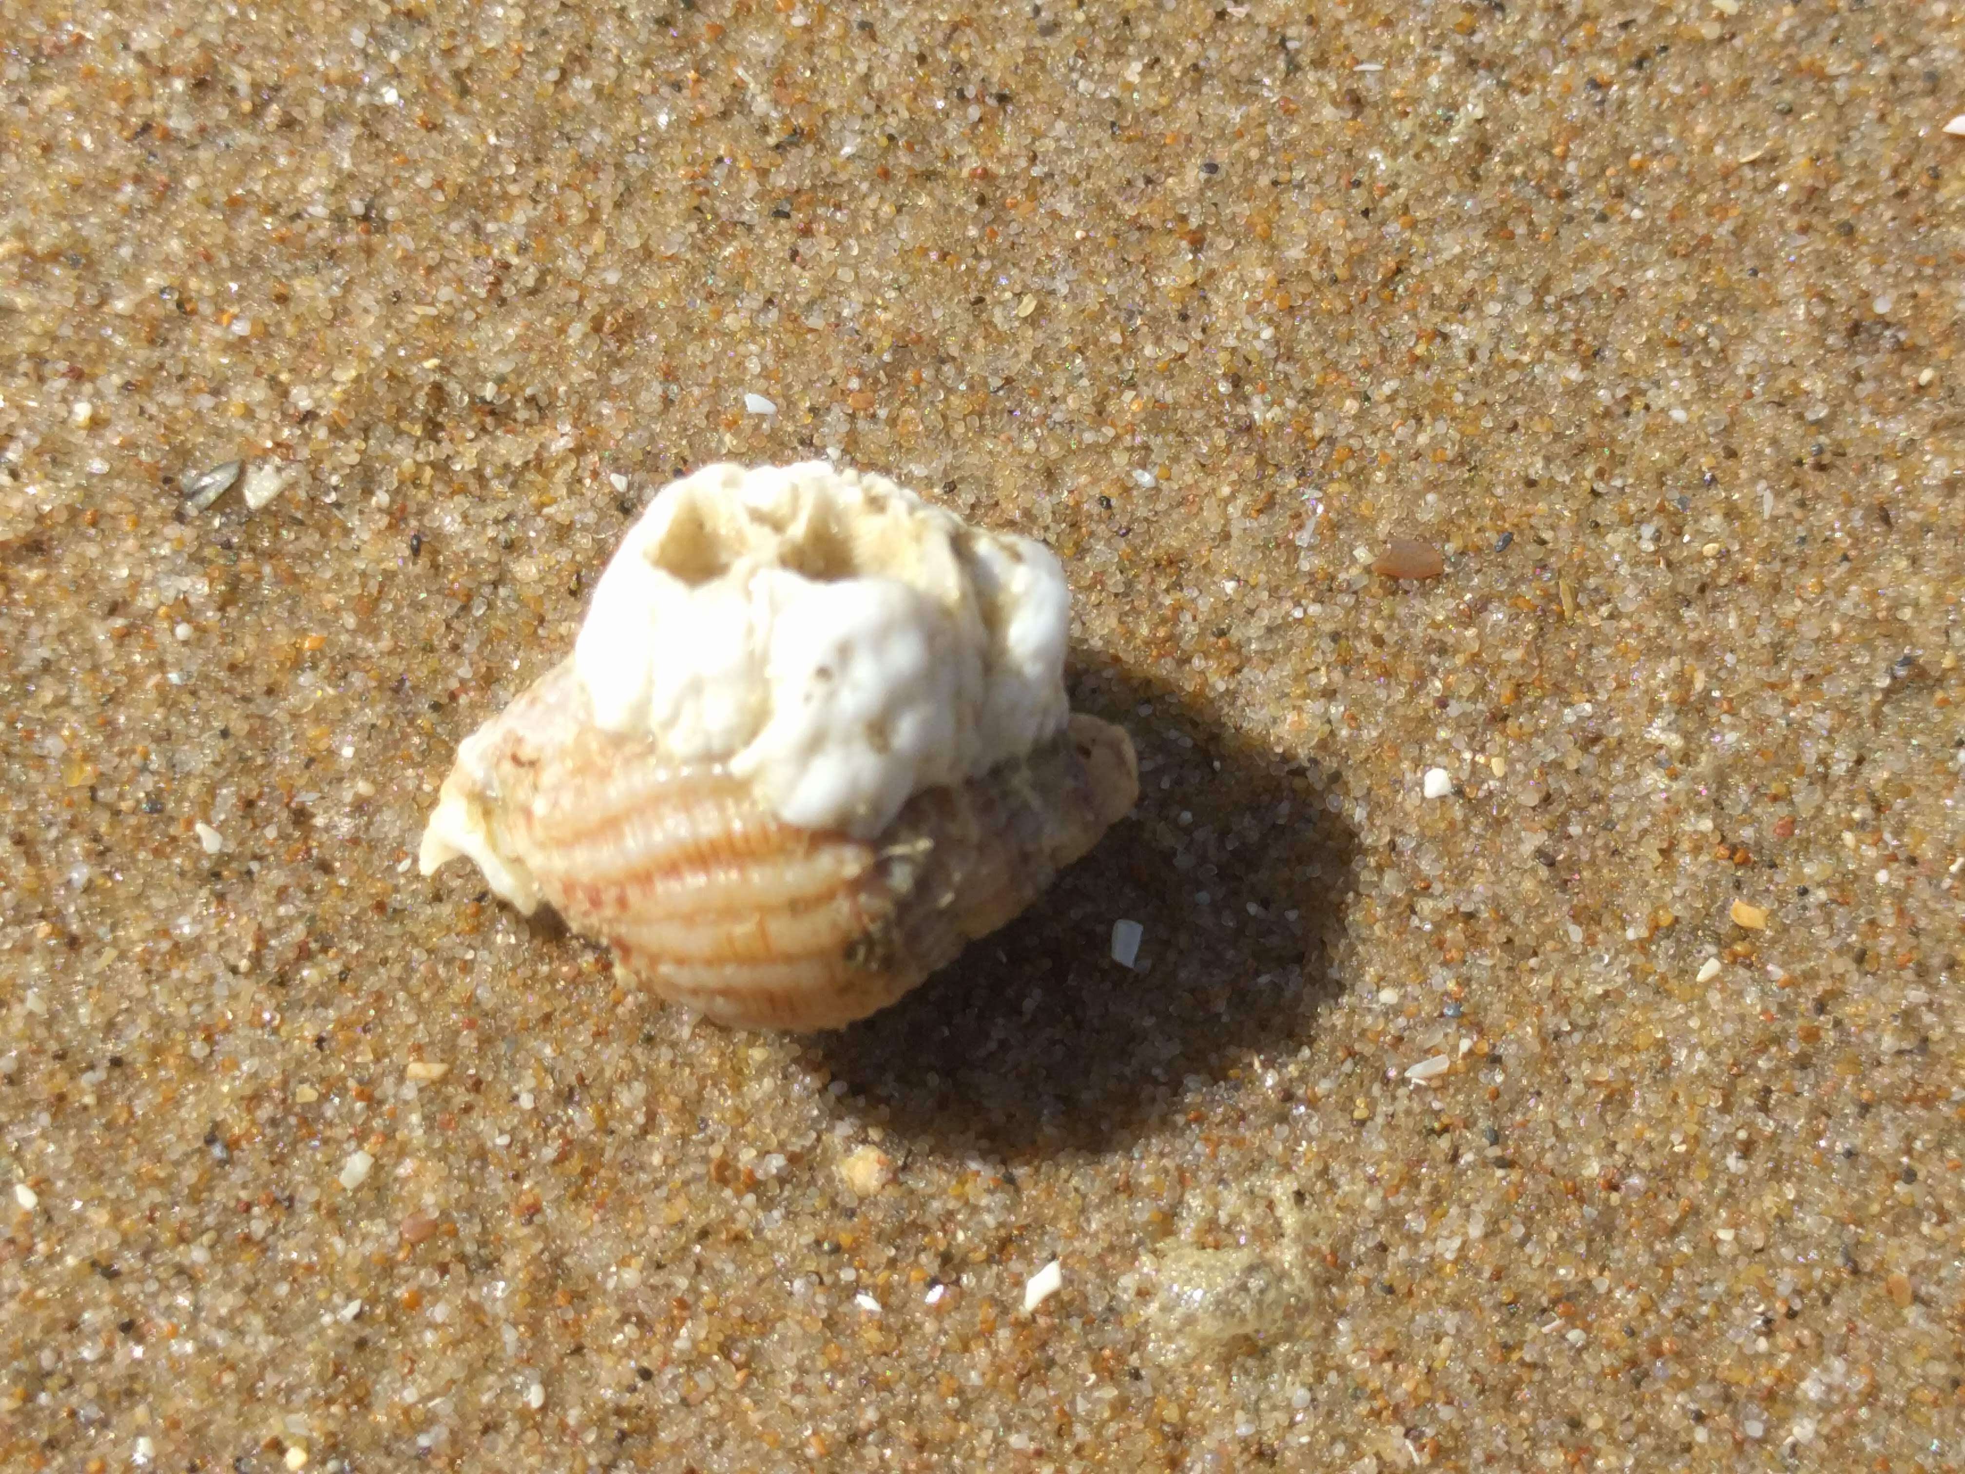
[[[562,662],[472,739],[444,800],[481,823],[525,910],[548,902],[654,992],[745,1028],[835,1028],[894,1002],[1024,910],[1140,790],[1126,733],[1073,715],[855,839],[788,823],[721,763],[664,759],[582,706]]]

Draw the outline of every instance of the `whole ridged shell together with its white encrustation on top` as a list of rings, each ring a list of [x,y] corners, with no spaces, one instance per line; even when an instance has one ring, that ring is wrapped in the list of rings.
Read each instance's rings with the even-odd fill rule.
[[[886,478],[707,466],[458,747],[422,873],[470,857],[723,1024],[863,1018],[1138,798],[1126,733],[1069,709],[1069,605],[1045,546]]]

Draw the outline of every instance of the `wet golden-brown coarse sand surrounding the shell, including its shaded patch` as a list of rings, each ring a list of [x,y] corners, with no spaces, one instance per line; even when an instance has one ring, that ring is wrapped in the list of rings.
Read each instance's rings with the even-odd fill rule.
[[[0,1466],[1957,1470],[1961,41],[0,0]],[[812,456],[1144,794],[735,1034],[413,855]]]

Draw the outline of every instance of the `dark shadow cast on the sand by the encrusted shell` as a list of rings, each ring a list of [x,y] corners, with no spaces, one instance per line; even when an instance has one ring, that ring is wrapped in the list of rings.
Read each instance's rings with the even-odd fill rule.
[[[806,1049],[906,1146],[1110,1150],[1199,1081],[1295,1051],[1336,994],[1356,837],[1328,770],[1075,652],[1073,709],[1124,725],[1140,804],[1010,926]],[[1138,971],[1112,922],[1146,928]]]

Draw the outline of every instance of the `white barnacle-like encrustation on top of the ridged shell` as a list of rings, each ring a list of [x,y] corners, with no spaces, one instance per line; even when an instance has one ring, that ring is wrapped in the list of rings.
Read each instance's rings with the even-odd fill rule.
[[[707,466],[593,590],[574,670],[605,731],[719,759],[790,823],[859,837],[1065,725],[1057,558],[884,476]]]

